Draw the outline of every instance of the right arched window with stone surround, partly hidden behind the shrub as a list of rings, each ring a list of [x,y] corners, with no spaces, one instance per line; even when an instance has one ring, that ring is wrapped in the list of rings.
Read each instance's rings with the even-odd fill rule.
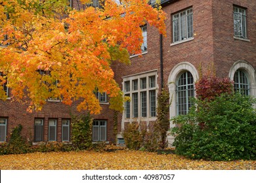
[[[234,91],[242,95],[249,95],[249,82],[245,72],[238,69],[234,74]]]

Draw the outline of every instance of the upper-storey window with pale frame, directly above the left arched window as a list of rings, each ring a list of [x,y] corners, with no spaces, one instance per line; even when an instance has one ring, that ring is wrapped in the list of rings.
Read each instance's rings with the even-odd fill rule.
[[[173,15],[173,42],[193,37],[192,8]]]

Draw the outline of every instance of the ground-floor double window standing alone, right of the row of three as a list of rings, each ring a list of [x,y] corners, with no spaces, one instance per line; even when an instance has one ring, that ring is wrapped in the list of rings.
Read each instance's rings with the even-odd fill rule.
[[[93,121],[93,141],[106,141],[106,120]]]

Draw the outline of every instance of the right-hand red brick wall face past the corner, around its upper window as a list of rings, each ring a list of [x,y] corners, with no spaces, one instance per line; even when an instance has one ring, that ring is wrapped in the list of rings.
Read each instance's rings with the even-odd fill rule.
[[[233,5],[246,8],[247,37],[234,39]],[[218,76],[227,77],[230,67],[240,59],[256,69],[256,1],[213,0],[214,57]]]

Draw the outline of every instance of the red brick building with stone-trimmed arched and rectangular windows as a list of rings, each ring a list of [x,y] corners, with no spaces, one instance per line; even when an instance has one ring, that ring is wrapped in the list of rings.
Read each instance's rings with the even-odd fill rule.
[[[196,95],[194,82],[209,69],[218,77],[234,80],[234,90],[256,95],[256,1],[163,0],[161,4],[167,14],[167,37],[144,25],[142,57],[131,56],[130,66],[112,66],[120,88],[131,97],[119,114],[119,132],[135,121],[150,129],[162,85],[167,84],[172,98],[169,116],[186,114],[189,97]],[[72,1],[72,7],[83,8],[77,1]],[[106,96],[99,98],[103,110],[94,116],[93,139],[114,142],[114,111],[108,108]],[[23,133],[32,141],[70,140],[70,110],[77,113],[75,105],[49,101],[41,112],[28,113],[27,106],[10,100],[0,104],[1,141],[18,124],[24,125]],[[117,138],[122,138],[121,133]]]

